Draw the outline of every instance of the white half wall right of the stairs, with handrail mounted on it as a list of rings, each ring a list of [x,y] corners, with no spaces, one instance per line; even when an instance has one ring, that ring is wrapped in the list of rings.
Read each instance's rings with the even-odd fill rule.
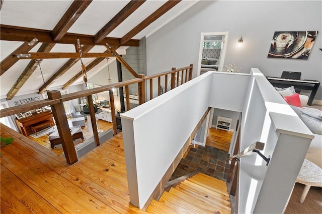
[[[240,159],[240,213],[283,213],[313,134],[259,69],[252,68],[242,111],[240,150],[256,141],[271,156]]]

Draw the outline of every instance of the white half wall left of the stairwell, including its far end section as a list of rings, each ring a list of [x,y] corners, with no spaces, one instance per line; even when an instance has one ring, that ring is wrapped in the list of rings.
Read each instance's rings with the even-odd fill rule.
[[[208,72],[174,90],[121,115],[130,201],[142,207],[196,127],[210,103],[242,109],[247,84],[224,95],[212,88],[214,73]],[[219,75],[217,73],[216,75]],[[220,74],[228,81],[247,82],[246,74]],[[222,81],[222,83],[224,83]],[[243,88],[244,87],[244,88]],[[232,100],[235,99],[234,102]],[[216,102],[220,104],[216,105]],[[237,103],[240,102],[240,103]]]

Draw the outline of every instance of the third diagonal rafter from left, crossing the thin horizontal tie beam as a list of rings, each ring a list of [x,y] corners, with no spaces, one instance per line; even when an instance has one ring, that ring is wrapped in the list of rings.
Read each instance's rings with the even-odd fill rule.
[[[93,45],[84,45],[83,47],[82,47],[82,51],[83,51],[83,53],[87,53],[87,52],[89,52],[92,48],[93,48],[94,46]],[[53,76],[51,76],[50,78],[49,78],[49,80],[47,80],[46,82],[45,82],[45,84],[44,85],[42,85],[40,88],[39,88],[39,92],[38,92],[38,94],[41,94],[41,93],[43,93],[45,90],[46,90],[46,88],[48,87],[48,86],[50,86],[57,78],[59,78],[61,75],[63,75],[64,73],[66,73],[66,71],[68,71],[68,69],[70,69],[73,65],[75,65],[76,64],[76,62],[78,62],[79,61],[79,59],[77,59],[77,58],[73,58],[73,59],[70,59],[70,60],[68,60]]]

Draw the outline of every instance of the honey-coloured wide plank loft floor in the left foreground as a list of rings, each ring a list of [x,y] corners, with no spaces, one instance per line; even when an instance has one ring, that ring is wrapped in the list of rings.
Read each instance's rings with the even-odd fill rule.
[[[13,136],[1,148],[2,213],[141,213],[129,202],[122,133],[73,165],[35,141]]]

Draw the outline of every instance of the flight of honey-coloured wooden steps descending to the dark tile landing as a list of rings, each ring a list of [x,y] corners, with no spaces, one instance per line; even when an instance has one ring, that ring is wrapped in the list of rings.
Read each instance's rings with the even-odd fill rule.
[[[152,200],[146,212],[230,213],[227,184],[199,172]]]

